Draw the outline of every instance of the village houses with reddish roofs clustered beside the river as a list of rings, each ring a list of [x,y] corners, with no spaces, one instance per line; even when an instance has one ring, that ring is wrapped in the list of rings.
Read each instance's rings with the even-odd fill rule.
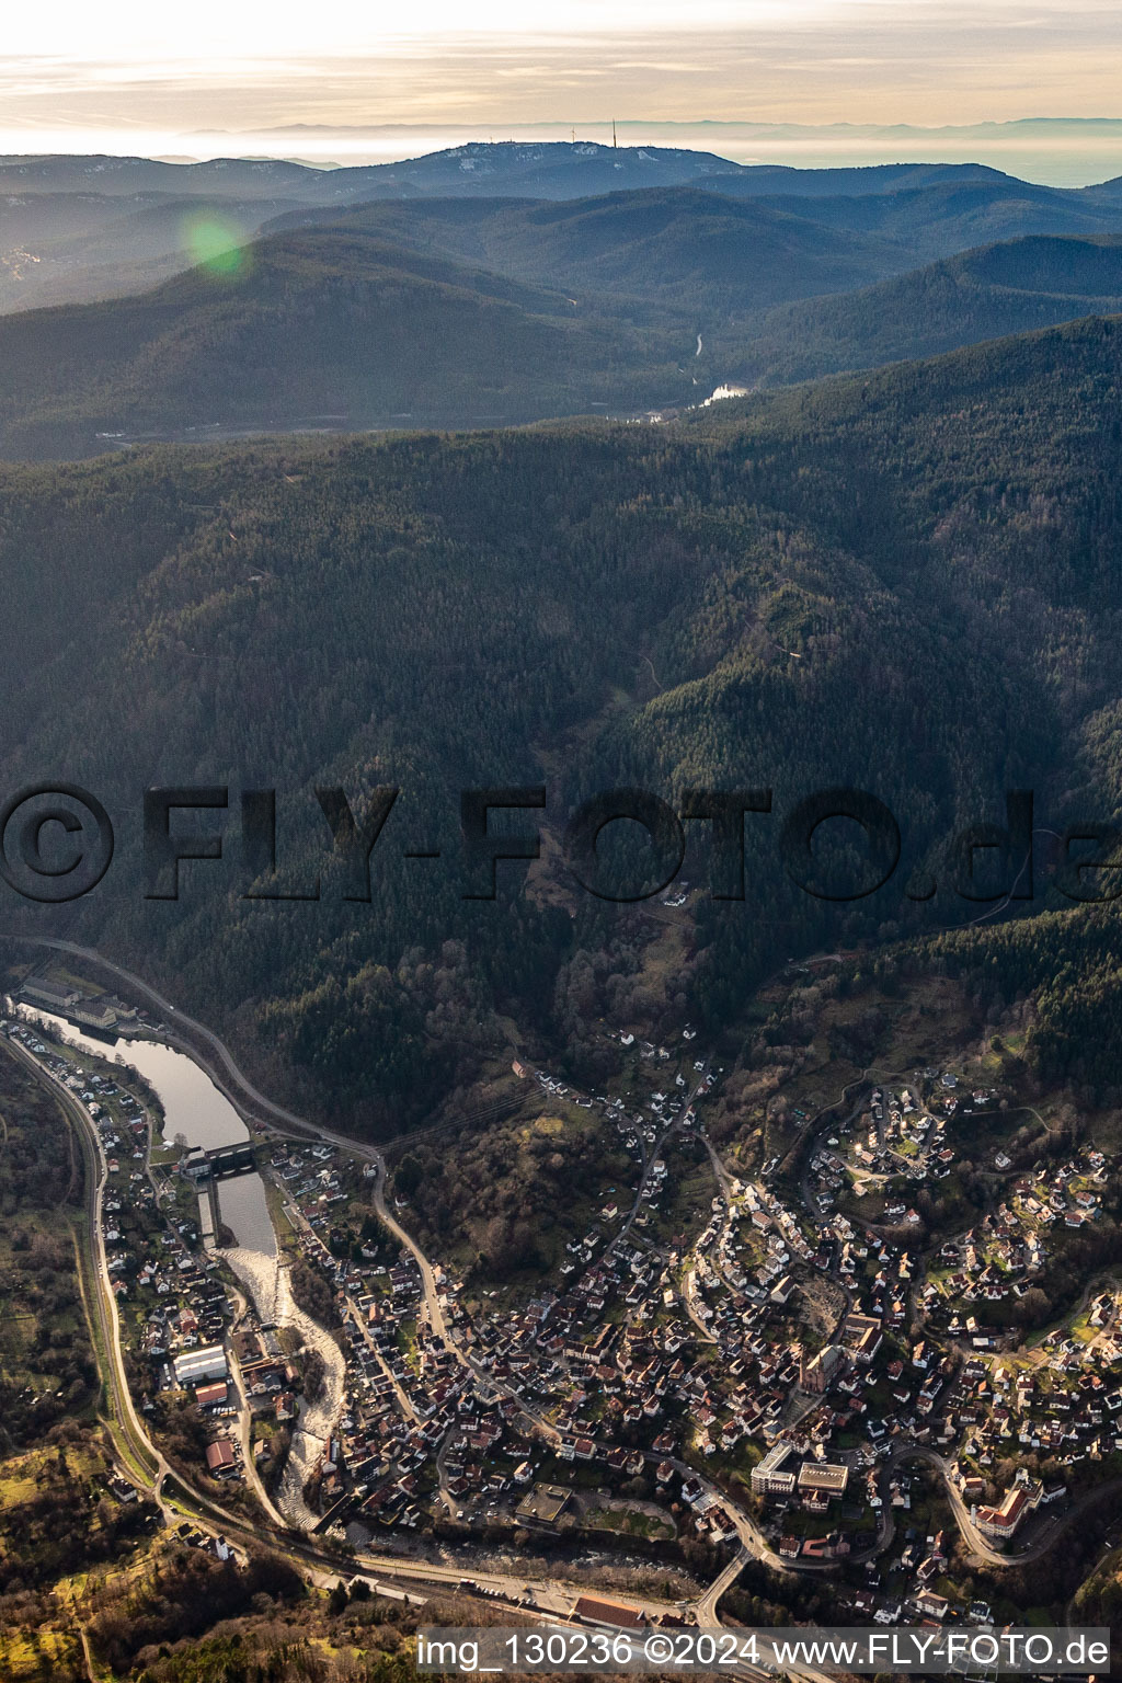
[[[138,1405],[227,1498],[273,1506],[321,1363],[227,1271],[192,1155],[163,1141],[128,1070],[3,1032],[98,1129]],[[624,1042],[626,1092],[515,1065],[552,1112],[599,1114],[634,1165],[520,1303],[419,1261],[402,1242],[410,1200],[387,1181],[378,1213],[370,1156],[254,1139],[278,1266],[320,1281],[311,1308],[345,1363],[301,1501],[358,1548],[521,1533],[658,1558],[695,1538],[786,1572],[844,1567],[839,1607],[878,1622],[986,1622],[947,1594],[954,1528],[996,1558],[1043,1548],[1080,1469],[1122,1457],[1119,1284],[1103,1271],[1040,1336],[1001,1313],[1048,1279],[1056,1235],[1093,1225],[1117,1165],[1083,1144],[1019,1168],[996,1148],[991,1207],[935,1242],[897,1188],[955,1171],[952,1072],[866,1087],[807,1133],[799,1171],[770,1161],[749,1178],[707,1138],[722,1072],[691,1040]],[[685,1235],[666,1217],[683,1139],[712,1170]]]

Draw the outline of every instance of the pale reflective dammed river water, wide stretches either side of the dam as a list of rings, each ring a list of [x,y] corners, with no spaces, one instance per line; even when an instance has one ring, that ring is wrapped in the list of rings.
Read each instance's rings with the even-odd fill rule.
[[[244,1121],[205,1069],[161,1040],[99,1040],[82,1033],[66,1017],[40,1011],[20,1003],[20,1015],[54,1028],[82,1052],[114,1064],[123,1060],[138,1070],[163,1106],[163,1138],[167,1144],[182,1141],[214,1151],[217,1146],[241,1144],[249,1139]],[[215,1183],[219,1212],[225,1225],[246,1250],[276,1256],[276,1234],[266,1203],[261,1175],[236,1175]]]

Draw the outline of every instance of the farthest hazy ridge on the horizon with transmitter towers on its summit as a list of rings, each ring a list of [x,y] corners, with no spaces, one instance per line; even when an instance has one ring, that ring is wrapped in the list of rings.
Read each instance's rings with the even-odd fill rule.
[[[599,279],[590,268],[594,222],[611,224],[612,212],[595,200],[649,197],[649,217],[669,204],[666,194],[696,194],[698,229],[693,264],[683,261],[690,246],[681,229],[678,249],[649,247],[648,274],[636,289],[643,264],[634,241],[622,231],[631,252],[599,256]],[[718,212],[705,199],[720,199],[727,227],[717,236]],[[698,300],[712,291],[720,308],[752,310],[814,291],[829,293],[870,284],[917,263],[932,261],[998,239],[1024,234],[1098,234],[1122,227],[1122,180],[1092,188],[1053,188],[1021,182],[979,163],[885,163],[868,168],[811,168],[742,165],[715,153],[673,146],[606,146],[592,141],[468,143],[395,163],[348,168],[315,168],[273,158],[212,158],[204,163],[170,163],[153,158],[24,157],[0,158],[0,313],[40,305],[86,303],[138,293],[198,259],[195,219],[209,219],[209,244],[237,246],[256,239],[266,226],[286,217],[323,219],[372,212],[375,205],[493,207],[537,204],[523,209],[520,236],[500,234],[496,224],[484,242],[466,251],[449,212],[446,254],[491,263],[496,269],[553,284],[624,286],[631,296],[668,300],[696,278]],[[575,249],[577,214],[557,214],[552,236],[542,231],[548,205],[584,204],[585,249]],[[678,202],[678,219],[686,200]],[[732,209],[740,205],[740,212]],[[755,207],[760,219],[760,276],[747,274],[755,257],[744,257],[737,279],[737,214]],[[392,214],[392,212],[390,212]],[[479,212],[484,215],[483,212]],[[471,219],[474,212],[468,212]],[[486,219],[484,215],[484,219]],[[513,215],[513,210],[511,210]],[[767,217],[802,224],[791,254],[797,279],[786,286],[781,274],[782,239]],[[638,204],[631,210],[638,224]],[[532,222],[537,222],[537,234]],[[570,229],[565,229],[570,224]],[[807,224],[816,224],[811,232]],[[278,224],[279,226],[279,224]],[[405,236],[405,222],[397,234]],[[796,229],[787,227],[794,239]],[[409,239],[419,242],[417,232]],[[523,249],[515,251],[521,241]],[[552,252],[550,252],[552,241]],[[811,257],[811,246],[818,251]],[[432,237],[421,241],[437,249]],[[537,247],[537,249],[535,249]],[[833,249],[831,249],[833,247]],[[555,256],[567,266],[548,271]],[[574,264],[579,263],[579,268]],[[779,284],[765,284],[769,276]],[[675,301],[683,301],[681,298]]]

